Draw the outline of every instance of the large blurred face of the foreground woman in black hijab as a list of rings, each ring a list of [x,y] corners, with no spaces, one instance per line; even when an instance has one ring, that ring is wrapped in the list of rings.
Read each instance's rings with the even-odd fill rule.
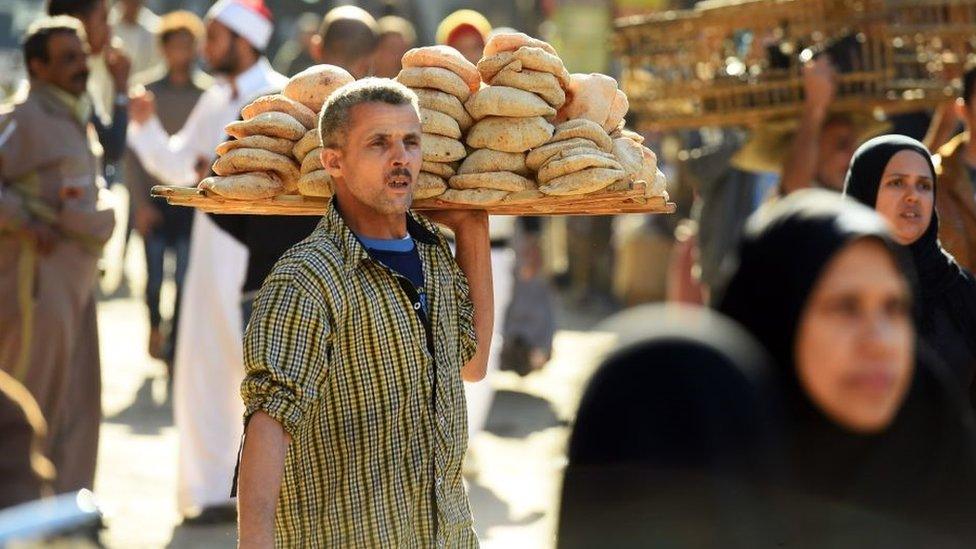
[[[908,285],[891,254],[856,241],[831,259],[797,330],[797,376],[810,400],[848,430],[891,424],[911,383]]]

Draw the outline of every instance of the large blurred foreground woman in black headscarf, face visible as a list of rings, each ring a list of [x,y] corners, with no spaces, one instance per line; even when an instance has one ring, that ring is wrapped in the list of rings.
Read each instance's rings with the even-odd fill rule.
[[[750,218],[717,307],[777,364],[789,486],[822,502],[816,514],[968,539],[976,432],[958,388],[919,358],[904,263],[876,213],[800,191]]]

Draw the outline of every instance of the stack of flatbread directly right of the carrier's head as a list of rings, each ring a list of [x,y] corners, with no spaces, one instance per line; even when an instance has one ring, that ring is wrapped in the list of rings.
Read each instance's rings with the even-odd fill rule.
[[[429,46],[405,53],[403,70],[396,79],[420,100],[423,164],[414,199],[440,196],[447,190],[446,180],[467,155],[461,139],[472,120],[464,102],[481,87],[481,76],[456,49]]]

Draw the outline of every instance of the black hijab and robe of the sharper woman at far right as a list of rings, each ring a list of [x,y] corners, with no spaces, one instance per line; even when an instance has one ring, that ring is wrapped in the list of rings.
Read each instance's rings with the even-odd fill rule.
[[[844,194],[874,208],[888,162],[906,150],[925,159],[935,185],[935,167],[925,145],[903,135],[882,135],[854,153]],[[968,387],[976,369],[976,282],[939,243],[939,214],[934,206],[925,233],[904,248],[918,276],[914,290],[918,333]]]

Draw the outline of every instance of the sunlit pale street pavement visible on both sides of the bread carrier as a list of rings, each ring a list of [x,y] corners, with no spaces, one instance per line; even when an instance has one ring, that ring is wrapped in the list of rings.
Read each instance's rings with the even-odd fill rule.
[[[234,525],[180,524],[177,437],[166,371],[146,353],[142,244],[137,236],[130,239],[124,271],[120,248],[109,252],[103,281],[114,295],[103,297],[98,309],[105,418],[95,491],[107,515],[102,539],[120,549],[236,547]],[[122,272],[122,287],[115,290]],[[164,303],[173,294],[167,283]],[[586,379],[611,342],[610,336],[588,330],[595,315],[560,308],[558,319],[562,329],[544,369],[525,378],[495,372],[483,381],[496,394],[485,430],[471,437],[465,476],[486,548],[554,546],[570,421]]]

